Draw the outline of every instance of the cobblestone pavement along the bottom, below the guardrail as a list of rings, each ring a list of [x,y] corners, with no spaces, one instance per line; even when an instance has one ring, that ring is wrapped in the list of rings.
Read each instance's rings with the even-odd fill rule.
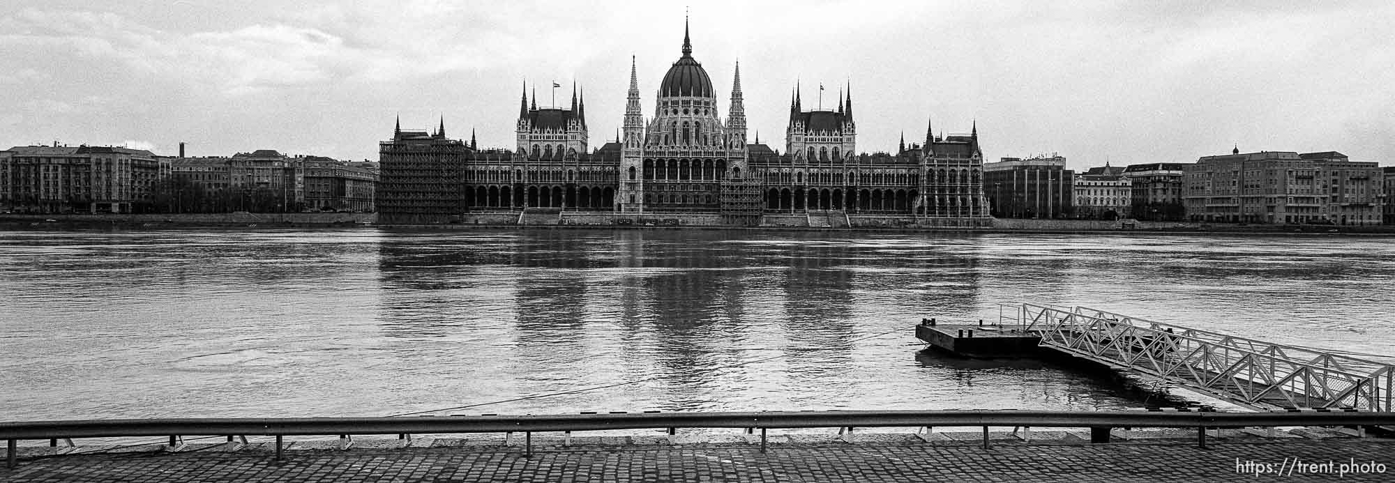
[[[1395,482],[1395,440],[353,448],[27,456],[3,482]],[[1299,458],[1302,465],[1295,466]],[[1339,465],[1375,462],[1339,475]],[[1334,462],[1331,468],[1309,463]],[[1282,465],[1282,466],[1281,466]],[[1384,469],[1384,473],[1377,469]],[[1268,470],[1268,472],[1265,472]],[[1276,475],[1282,472],[1283,475]],[[1292,472],[1292,473],[1290,473]]]

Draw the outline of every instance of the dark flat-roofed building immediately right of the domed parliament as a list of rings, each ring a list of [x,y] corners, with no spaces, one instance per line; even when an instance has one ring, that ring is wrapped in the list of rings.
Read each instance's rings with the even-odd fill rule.
[[[1002,158],[983,165],[983,190],[999,218],[1064,218],[1074,214],[1076,172],[1063,156]]]

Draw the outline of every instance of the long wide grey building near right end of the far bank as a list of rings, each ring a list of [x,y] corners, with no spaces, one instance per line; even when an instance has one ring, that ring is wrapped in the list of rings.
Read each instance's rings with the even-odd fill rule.
[[[1184,169],[1187,218],[1214,222],[1375,225],[1382,173],[1339,152],[1204,156]]]

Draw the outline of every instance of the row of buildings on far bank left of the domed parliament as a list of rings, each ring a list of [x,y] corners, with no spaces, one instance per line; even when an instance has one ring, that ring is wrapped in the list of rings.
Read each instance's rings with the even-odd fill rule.
[[[287,156],[155,155],[120,147],[0,151],[0,211],[33,214],[372,211],[375,162]]]

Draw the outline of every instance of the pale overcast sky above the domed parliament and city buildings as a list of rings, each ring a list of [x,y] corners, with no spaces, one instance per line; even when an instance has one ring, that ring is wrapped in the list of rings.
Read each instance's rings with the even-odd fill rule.
[[[14,4],[14,0],[6,4]],[[614,138],[636,56],[644,114],[685,3],[20,0],[0,13],[0,144],[278,149],[378,159],[403,128],[513,147],[520,84],[583,85]],[[1395,163],[1391,1],[691,3],[693,57],[725,116],[741,61],[752,135],[784,149],[790,92],[852,84],[858,151],[935,130],[983,155],[1071,168],[1240,151]]]

